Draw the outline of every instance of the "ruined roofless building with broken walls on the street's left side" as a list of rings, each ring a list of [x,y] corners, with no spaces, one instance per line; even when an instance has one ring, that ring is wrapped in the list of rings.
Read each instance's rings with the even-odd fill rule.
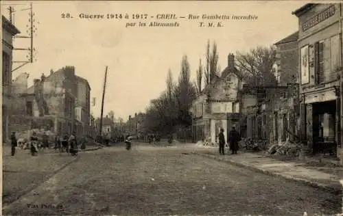
[[[87,87],[81,88],[80,82]],[[45,129],[55,134],[86,135],[90,90],[88,82],[75,75],[74,67],[51,70],[49,76],[34,79],[34,85],[21,94],[23,106],[19,107],[23,110],[17,109],[21,113],[16,113],[11,124],[17,131]]]

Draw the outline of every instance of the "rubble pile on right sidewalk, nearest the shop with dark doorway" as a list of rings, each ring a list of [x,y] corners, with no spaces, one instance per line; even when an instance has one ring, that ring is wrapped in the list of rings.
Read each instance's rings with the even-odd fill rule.
[[[281,144],[273,144],[270,146],[270,148],[267,150],[267,154],[274,156],[298,157],[300,148],[301,146],[299,144],[293,144],[289,141],[289,139],[287,139]]]

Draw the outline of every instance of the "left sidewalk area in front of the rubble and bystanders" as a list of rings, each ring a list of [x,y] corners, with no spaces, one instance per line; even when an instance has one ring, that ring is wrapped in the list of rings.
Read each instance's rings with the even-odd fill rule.
[[[9,146],[2,146],[2,150],[3,205],[14,202],[78,159],[67,154],[48,153],[54,150],[45,150],[36,157],[32,157],[29,150],[16,150],[14,157],[10,156]]]

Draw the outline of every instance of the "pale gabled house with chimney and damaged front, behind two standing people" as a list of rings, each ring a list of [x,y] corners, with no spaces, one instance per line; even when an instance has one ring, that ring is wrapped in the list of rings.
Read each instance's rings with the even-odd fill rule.
[[[222,75],[215,76],[192,103],[193,141],[210,138],[211,143],[215,144],[221,128],[226,139],[228,130],[238,121],[237,92],[241,86],[242,79],[235,68],[235,56],[229,54],[228,66]]]

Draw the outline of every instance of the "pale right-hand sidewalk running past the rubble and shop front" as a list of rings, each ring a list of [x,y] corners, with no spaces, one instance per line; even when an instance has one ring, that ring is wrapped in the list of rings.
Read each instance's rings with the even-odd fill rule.
[[[300,161],[284,162],[265,157],[263,154],[238,152],[238,154],[220,155],[216,148],[194,148],[193,154],[208,157],[217,161],[225,161],[240,167],[263,172],[271,176],[279,176],[313,187],[329,191],[342,191],[339,180],[343,178],[342,167],[314,167]]]

